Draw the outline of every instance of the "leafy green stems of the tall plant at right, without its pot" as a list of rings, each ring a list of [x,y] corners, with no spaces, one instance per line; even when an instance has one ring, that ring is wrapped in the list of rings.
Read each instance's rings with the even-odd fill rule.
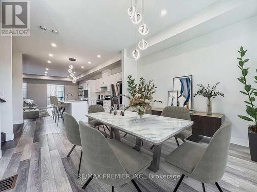
[[[257,97],[257,89],[253,88],[250,84],[247,83],[246,76],[248,74],[249,67],[246,68],[246,62],[249,61],[249,59],[244,59],[245,53],[247,50],[244,50],[243,47],[240,48],[240,51],[237,51],[240,53],[240,57],[237,57],[238,61],[238,68],[242,72],[242,76],[240,78],[237,78],[242,84],[244,84],[244,91],[240,91],[242,94],[247,95],[248,100],[245,101],[246,103],[246,113],[247,116],[244,115],[238,115],[238,117],[247,120],[252,121],[254,124],[249,125],[248,130],[250,133],[257,134],[257,108],[256,105],[254,105],[255,98]],[[256,70],[257,72],[257,70]],[[254,76],[255,83],[257,83],[257,76]]]

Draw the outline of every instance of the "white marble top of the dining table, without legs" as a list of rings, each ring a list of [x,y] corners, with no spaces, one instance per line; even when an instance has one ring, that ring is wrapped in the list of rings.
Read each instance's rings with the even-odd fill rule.
[[[86,116],[152,144],[161,144],[194,123],[189,120],[150,114],[144,114],[143,118],[140,118],[136,112],[130,111],[125,111],[125,116],[121,116],[120,111],[117,111],[117,115],[100,112],[86,114]]]

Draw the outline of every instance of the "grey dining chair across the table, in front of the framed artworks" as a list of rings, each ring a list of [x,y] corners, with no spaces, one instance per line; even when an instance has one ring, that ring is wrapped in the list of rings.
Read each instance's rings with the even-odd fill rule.
[[[160,116],[191,120],[189,110],[182,106],[166,106],[166,108],[164,108],[163,111],[161,112]],[[179,146],[177,138],[185,142],[185,139],[189,138],[191,135],[192,135],[191,126],[189,126],[186,130],[183,130],[179,134],[175,135],[174,137],[175,137],[177,146]],[[153,148],[154,148],[154,145],[152,145],[151,150]]]

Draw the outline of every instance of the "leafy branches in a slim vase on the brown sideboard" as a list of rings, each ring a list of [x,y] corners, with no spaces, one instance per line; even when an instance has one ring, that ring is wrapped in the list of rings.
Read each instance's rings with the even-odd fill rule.
[[[211,103],[212,100],[211,98],[215,98],[216,96],[220,95],[224,97],[224,94],[221,92],[216,92],[216,88],[219,82],[215,84],[215,86],[210,87],[210,84],[208,84],[207,88],[203,86],[203,84],[197,84],[200,89],[194,94],[194,97],[198,96],[203,96],[206,97],[206,114],[211,115],[212,114],[212,107]]]

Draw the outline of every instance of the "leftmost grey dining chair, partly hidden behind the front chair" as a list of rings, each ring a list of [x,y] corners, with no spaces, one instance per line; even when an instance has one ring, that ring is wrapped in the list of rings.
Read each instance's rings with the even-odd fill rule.
[[[74,146],[71,148],[70,152],[67,155],[67,157],[69,157],[71,152],[74,150],[74,148],[77,145],[81,146],[79,124],[72,115],[70,115],[66,112],[63,112],[63,118],[64,118],[64,126],[65,126],[65,132],[66,132],[67,139],[69,140],[69,142],[74,144]],[[82,158],[82,150],[81,150],[81,154],[80,154],[80,163],[79,163],[78,174],[80,173],[81,158]]]

